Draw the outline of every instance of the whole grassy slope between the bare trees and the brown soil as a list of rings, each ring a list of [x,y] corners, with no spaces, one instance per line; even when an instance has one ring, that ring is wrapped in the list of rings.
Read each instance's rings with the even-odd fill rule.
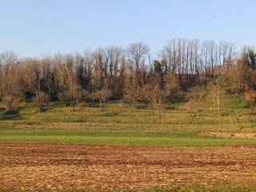
[[[247,113],[242,110],[240,113]],[[13,116],[12,116],[13,115]],[[256,139],[210,138],[204,131],[255,132],[254,116],[230,112],[218,115],[208,109],[197,118],[182,104],[162,110],[156,118],[146,106],[110,103],[104,110],[95,106],[78,107],[76,112],[55,105],[42,114],[26,104],[18,114],[0,121],[0,140],[35,142],[84,142],[155,146],[212,146],[256,144]],[[14,117],[14,118],[12,118]],[[5,117],[2,116],[2,119]]]

